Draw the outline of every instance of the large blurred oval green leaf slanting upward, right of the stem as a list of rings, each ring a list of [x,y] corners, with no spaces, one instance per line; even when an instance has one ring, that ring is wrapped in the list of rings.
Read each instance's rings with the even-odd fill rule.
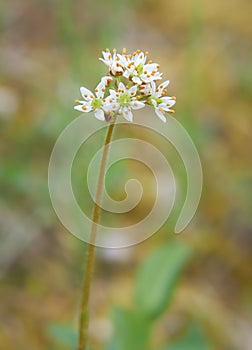
[[[191,249],[177,241],[155,250],[139,269],[135,289],[135,307],[155,319],[171,301],[181,270]]]

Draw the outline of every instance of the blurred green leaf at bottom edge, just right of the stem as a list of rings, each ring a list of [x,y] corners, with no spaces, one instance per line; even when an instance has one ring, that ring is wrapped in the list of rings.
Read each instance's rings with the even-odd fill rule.
[[[150,322],[133,311],[116,308],[114,337],[106,350],[147,350]]]

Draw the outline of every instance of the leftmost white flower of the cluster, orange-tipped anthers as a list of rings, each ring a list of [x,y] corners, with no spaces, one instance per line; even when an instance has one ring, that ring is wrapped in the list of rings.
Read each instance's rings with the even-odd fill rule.
[[[94,110],[95,117],[99,120],[105,120],[104,110],[109,108],[109,103],[104,99],[104,94],[106,91],[106,85],[110,77],[104,77],[101,82],[95,88],[95,95],[85,87],[80,88],[80,92],[84,101],[77,100],[76,103],[79,103],[74,107],[77,111],[80,112],[91,112]]]

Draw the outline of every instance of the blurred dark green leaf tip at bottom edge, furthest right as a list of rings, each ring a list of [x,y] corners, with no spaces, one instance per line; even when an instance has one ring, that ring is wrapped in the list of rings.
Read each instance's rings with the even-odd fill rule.
[[[196,326],[191,326],[182,339],[162,350],[208,350],[210,348],[211,345],[203,332]]]

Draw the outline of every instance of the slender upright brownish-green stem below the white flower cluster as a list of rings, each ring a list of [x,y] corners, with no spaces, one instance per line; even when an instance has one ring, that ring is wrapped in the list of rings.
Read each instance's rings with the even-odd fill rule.
[[[78,340],[78,350],[86,350],[88,342],[88,324],[89,324],[89,315],[88,315],[88,305],[90,297],[90,287],[92,274],[94,269],[94,258],[95,258],[95,241],[97,234],[97,224],[100,220],[101,215],[101,199],[104,185],[104,175],[106,169],[106,162],[109,152],[109,144],[112,138],[113,130],[115,127],[115,122],[109,124],[107,135],[105,138],[102,159],[100,164],[100,171],[98,177],[98,184],[95,195],[95,202],[93,206],[93,219],[90,233],[90,242],[88,244],[87,259],[86,259],[86,269],[83,281],[82,288],[82,302],[80,307],[80,318],[79,318],[79,340]]]

